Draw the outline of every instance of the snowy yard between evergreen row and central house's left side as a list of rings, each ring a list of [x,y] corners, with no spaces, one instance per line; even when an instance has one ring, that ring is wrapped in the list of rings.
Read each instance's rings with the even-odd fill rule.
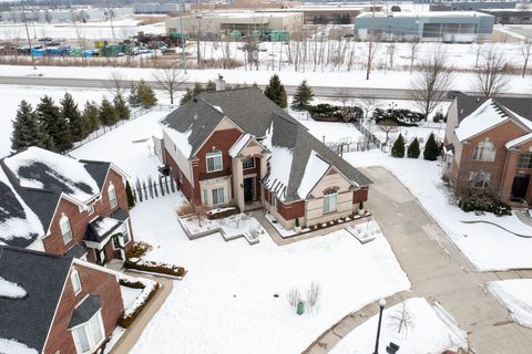
[[[157,177],[160,162],[154,153],[152,135],[161,135],[157,122],[167,114],[152,111],[76,148],[71,155],[112,162],[130,175],[132,181]]]

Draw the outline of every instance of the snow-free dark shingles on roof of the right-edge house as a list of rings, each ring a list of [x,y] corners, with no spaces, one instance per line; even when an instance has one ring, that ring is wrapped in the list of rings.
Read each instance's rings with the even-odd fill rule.
[[[457,94],[458,123],[477,111],[490,97]],[[525,119],[532,121],[532,98],[528,97],[494,97],[499,107],[505,107]],[[501,110],[502,110],[501,107]]]

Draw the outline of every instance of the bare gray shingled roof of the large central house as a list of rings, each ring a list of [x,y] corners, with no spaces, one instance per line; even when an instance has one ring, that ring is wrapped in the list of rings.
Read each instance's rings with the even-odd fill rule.
[[[285,201],[287,202],[300,199],[297,195],[297,188],[304,176],[311,150],[316,150],[323,159],[331,163],[347,178],[358,185],[364,186],[371,183],[358,169],[321,144],[304,125],[268,100],[257,88],[202,93],[195,100],[168,114],[162,121],[162,124],[180,133],[192,129],[188,136],[188,143],[192,146],[190,158],[194,158],[196,150],[224,116],[227,116],[244,132],[257,138],[265,137],[268,129],[273,127],[273,145],[293,149],[290,180],[285,190]]]

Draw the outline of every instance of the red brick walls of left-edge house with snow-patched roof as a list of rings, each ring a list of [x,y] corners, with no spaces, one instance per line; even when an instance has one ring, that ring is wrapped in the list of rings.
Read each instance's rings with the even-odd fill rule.
[[[114,185],[114,188],[116,190],[116,199],[119,201],[119,205],[115,208],[111,208],[111,204],[109,201],[108,188],[111,183]],[[59,201],[59,206],[52,218],[52,222],[50,227],[50,236],[48,236],[43,240],[44,250],[53,254],[63,254],[74,243],[79,243],[83,240],[86,226],[91,220],[93,220],[98,216],[110,216],[111,212],[113,212],[117,207],[121,207],[125,211],[129,210],[127,197],[125,195],[125,186],[122,181],[122,176],[120,176],[113,169],[110,169],[108,178],[102,189],[102,197],[100,200],[96,199],[96,201],[94,202],[93,214],[89,214],[85,210],[82,210],[80,212],[79,207],[66,199],[61,199]],[[60,220],[63,214],[69,218],[70,227],[73,233],[73,239],[66,244],[64,244],[63,242],[63,239],[61,237],[61,228],[60,228]],[[130,233],[130,239],[133,239],[132,229]],[[131,246],[132,246],[132,242],[129,243],[127,248],[131,248]],[[89,253],[92,253],[92,251],[89,250]],[[88,260],[93,261],[92,254],[89,254]]]

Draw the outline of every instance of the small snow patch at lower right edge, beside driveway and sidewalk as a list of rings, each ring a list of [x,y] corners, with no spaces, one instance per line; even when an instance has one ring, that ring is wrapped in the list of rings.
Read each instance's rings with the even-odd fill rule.
[[[487,285],[513,321],[532,327],[532,279],[490,281]]]

